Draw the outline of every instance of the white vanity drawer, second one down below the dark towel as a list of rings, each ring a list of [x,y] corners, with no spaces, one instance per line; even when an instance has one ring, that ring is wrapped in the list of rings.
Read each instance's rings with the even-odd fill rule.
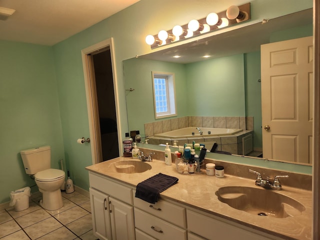
[[[134,207],[135,227],[159,239],[186,239],[186,231]]]

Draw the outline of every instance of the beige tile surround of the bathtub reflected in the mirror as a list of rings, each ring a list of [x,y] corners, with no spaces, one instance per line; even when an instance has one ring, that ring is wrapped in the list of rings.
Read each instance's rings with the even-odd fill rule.
[[[176,125],[176,121],[178,124]],[[240,128],[243,131],[233,134],[232,136],[212,136],[212,137],[201,137],[201,138],[163,138],[155,137],[153,135],[181,129],[189,126],[194,127],[215,127],[215,128]],[[177,128],[178,127],[178,128]],[[169,145],[173,145],[173,141],[177,140],[178,145],[184,143],[195,142],[213,142],[218,144],[216,150],[226,151],[232,154],[243,154],[242,138],[250,135],[253,138],[253,116],[185,116],[172,118],[169,120],[155,121],[144,124],[145,135],[149,138],[150,144],[165,144],[168,142]]]

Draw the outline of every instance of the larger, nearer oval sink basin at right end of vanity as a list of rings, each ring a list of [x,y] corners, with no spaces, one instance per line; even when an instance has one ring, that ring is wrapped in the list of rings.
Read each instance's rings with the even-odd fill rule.
[[[224,186],[216,192],[229,206],[255,215],[271,217],[298,216],[305,207],[295,199],[274,190],[248,186]]]

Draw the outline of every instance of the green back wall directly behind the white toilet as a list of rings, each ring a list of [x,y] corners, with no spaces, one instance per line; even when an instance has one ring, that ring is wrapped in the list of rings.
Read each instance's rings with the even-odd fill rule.
[[[0,40],[0,52],[0,202],[5,202],[10,191],[35,184],[20,150],[50,145],[54,168],[60,168],[64,150],[52,47]]]

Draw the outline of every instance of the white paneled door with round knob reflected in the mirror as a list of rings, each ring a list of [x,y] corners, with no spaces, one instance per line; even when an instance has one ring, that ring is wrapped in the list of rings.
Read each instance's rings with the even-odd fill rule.
[[[312,36],[261,45],[263,157],[312,161]]]

